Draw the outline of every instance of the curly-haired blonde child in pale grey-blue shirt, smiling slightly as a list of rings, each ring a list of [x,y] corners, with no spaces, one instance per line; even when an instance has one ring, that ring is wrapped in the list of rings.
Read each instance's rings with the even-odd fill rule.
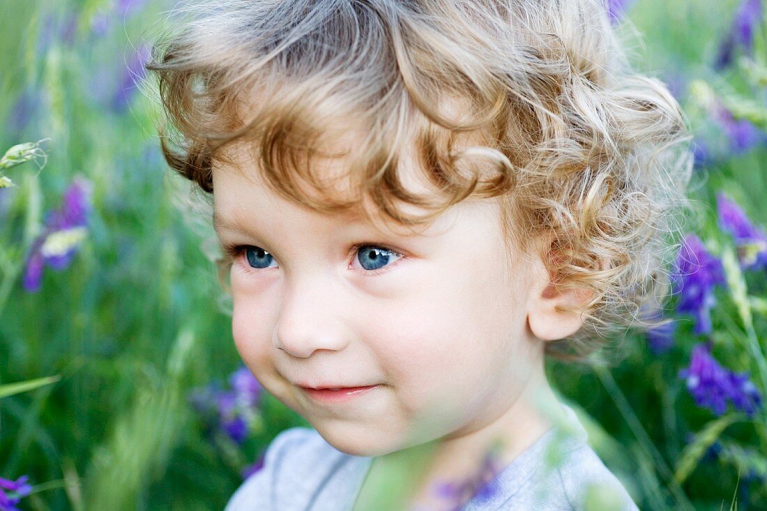
[[[239,353],[314,427],[227,509],[636,509],[544,371],[657,310],[690,170],[604,5],[208,3],[150,64],[163,150]]]

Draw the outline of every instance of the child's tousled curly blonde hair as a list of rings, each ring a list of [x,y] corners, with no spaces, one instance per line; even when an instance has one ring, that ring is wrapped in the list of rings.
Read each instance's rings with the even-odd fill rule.
[[[202,190],[238,142],[270,188],[320,211],[365,197],[420,226],[467,197],[496,198],[507,246],[547,236],[553,282],[590,292],[584,328],[548,354],[584,358],[607,330],[652,323],[690,137],[667,87],[627,64],[602,2],[229,0],[187,12],[147,67],[173,128],[166,160]],[[329,153],[350,119],[362,140]],[[404,185],[406,150],[429,193]],[[312,164],[339,156],[351,196]]]

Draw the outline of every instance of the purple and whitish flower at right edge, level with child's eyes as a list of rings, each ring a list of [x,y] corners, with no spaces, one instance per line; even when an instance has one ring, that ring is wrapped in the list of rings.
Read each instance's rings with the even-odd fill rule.
[[[716,194],[716,209],[719,226],[735,240],[743,268],[767,268],[767,233],[764,229],[754,226],[740,206],[724,193]]]

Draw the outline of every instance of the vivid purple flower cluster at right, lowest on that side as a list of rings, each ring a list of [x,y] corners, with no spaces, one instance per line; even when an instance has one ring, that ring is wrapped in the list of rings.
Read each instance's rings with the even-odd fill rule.
[[[747,373],[736,374],[719,365],[710,346],[701,343],[693,348],[690,367],[679,372],[696,404],[716,415],[727,410],[727,402],[752,415],[762,404],[762,397]]]

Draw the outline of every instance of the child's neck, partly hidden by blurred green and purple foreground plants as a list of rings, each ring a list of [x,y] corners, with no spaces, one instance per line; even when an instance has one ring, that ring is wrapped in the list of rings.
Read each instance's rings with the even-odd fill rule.
[[[375,458],[354,511],[456,509],[542,437],[555,424],[551,414],[560,413],[541,368],[498,417]]]

